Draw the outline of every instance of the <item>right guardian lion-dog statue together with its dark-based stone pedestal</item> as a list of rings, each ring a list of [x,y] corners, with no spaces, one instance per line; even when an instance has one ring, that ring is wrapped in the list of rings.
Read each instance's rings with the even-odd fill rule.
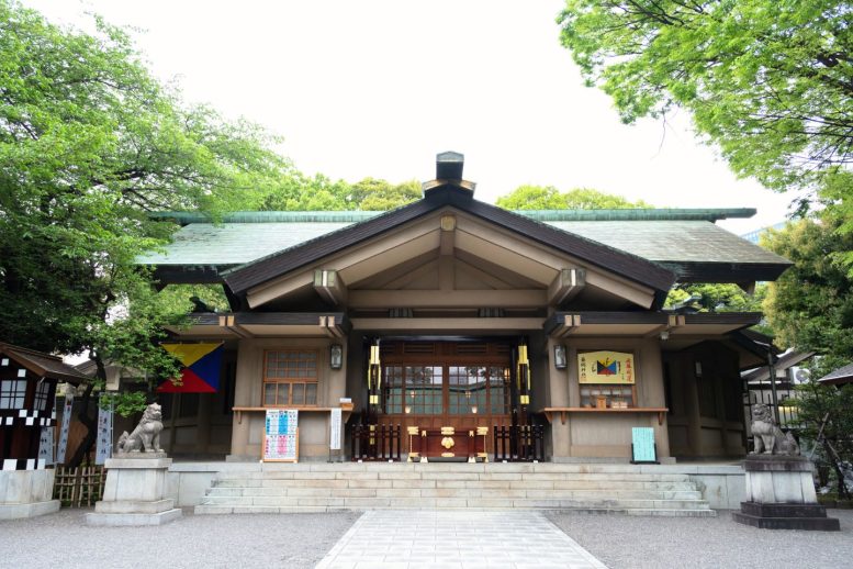
[[[743,462],[745,501],[734,521],[766,529],[839,531],[839,521],[818,504],[811,462],[799,456],[794,436],[782,433],[767,405],[753,405],[752,434],[755,448]]]

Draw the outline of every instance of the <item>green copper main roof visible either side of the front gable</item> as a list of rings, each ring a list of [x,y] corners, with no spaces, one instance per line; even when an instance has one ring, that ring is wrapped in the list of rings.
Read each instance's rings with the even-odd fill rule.
[[[478,202],[480,203],[480,202]],[[543,222],[669,268],[680,282],[775,280],[790,264],[714,221],[754,210],[542,210],[514,214]],[[221,223],[190,212],[162,212],[183,226],[164,252],[137,258],[165,282],[221,282],[221,274],[388,215],[386,212],[237,212]]]

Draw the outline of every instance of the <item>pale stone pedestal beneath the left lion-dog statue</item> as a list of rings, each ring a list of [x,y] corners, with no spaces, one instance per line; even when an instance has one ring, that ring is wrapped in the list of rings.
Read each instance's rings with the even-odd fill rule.
[[[166,471],[171,458],[165,453],[132,453],[106,459],[103,500],[89,525],[160,525],[181,516],[175,500],[166,498]]]

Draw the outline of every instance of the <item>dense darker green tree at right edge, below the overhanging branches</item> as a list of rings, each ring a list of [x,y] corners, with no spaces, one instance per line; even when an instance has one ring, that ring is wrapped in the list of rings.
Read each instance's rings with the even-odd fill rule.
[[[770,283],[763,304],[776,345],[822,356],[820,375],[853,361],[853,277],[832,260],[853,249],[853,234],[840,237],[837,230],[838,222],[801,220],[762,237],[794,263]]]

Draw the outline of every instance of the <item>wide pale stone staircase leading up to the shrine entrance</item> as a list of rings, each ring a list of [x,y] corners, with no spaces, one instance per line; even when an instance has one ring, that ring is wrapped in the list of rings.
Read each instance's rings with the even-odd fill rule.
[[[716,516],[686,473],[607,464],[280,464],[220,472],[197,514],[377,509]]]

